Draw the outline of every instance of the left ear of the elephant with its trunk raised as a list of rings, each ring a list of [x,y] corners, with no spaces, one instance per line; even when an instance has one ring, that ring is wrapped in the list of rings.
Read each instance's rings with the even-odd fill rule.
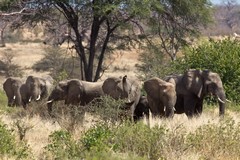
[[[117,91],[119,88],[119,83],[121,83],[122,79],[121,78],[116,78],[116,77],[110,77],[107,78],[102,85],[102,90],[104,94],[110,95],[111,97],[117,99],[121,95],[118,94],[119,92]]]

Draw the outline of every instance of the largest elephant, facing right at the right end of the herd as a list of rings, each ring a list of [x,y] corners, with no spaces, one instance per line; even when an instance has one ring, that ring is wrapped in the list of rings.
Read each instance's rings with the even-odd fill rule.
[[[220,76],[209,70],[189,69],[184,74],[171,75],[166,80],[176,83],[175,113],[185,113],[188,118],[202,114],[203,99],[211,94],[218,99],[219,115],[225,112],[226,95]]]

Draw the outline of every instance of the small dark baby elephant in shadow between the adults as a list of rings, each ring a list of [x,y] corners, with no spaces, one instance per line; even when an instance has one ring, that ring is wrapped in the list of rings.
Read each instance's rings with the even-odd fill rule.
[[[142,119],[144,117],[144,115],[146,116],[146,119],[149,123],[149,103],[147,100],[146,96],[141,96],[140,100],[138,102],[138,104],[136,105],[136,108],[134,110],[134,121],[137,122],[140,119]]]

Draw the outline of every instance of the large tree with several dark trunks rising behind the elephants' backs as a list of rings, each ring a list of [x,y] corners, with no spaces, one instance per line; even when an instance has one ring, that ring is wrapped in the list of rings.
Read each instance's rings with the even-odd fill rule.
[[[21,21],[14,26],[26,23],[34,26],[42,22],[61,42],[70,40],[82,65],[81,78],[87,81],[97,81],[100,77],[106,52],[126,46],[134,39],[135,29],[124,34],[120,30],[130,25],[140,27],[141,15],[150,13],[149,8],[136,0],[25,0],[18,3],[27,8],[25,13],[31,14],[21,15]]]

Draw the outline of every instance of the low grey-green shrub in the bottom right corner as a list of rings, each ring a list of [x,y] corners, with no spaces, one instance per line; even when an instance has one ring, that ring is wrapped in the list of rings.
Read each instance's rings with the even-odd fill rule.
[[[200,126],[194,133],[187,135],[186,144],[192,146],[192,152],[201,154],[202,159],[235,159],[240,156],[239,132],[240,124],[228,118],[219,124]]]

